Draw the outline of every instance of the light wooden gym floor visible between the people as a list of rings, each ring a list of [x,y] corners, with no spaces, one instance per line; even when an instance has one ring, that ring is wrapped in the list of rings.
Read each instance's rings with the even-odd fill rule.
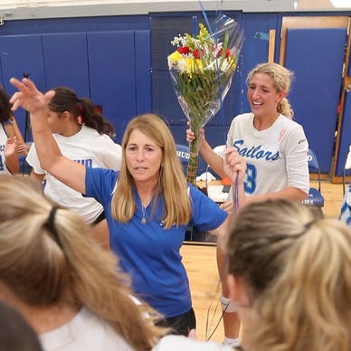
[[[316,184],[311,182],[311,186],[316,186]],[[337,218],[343,198],[342,185],[323,181],[321,193],[325,197],[323,209],[325,215]],[[193,297],[197,338],[205,340],[213,334],[211,340],[222,343],[223,323],[220,320],[222,311],[219,303],[220,289],[215,261],[215,244],[185,244],[181,252]]]

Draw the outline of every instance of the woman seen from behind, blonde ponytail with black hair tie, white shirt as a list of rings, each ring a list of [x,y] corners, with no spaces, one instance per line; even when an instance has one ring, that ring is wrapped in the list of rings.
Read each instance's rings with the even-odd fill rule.
[[[15,189],[15,191],[14,191]],[[89,224],[29,178],[0,176],[0,300],[22,313],[43,349],[151,349],[158,314],[131,293]]]

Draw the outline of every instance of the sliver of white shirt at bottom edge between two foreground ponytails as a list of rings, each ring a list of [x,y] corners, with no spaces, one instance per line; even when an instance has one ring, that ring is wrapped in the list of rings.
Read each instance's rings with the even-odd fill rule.
[[[102,348],[101,348],[102,350]],[[152,351],[233,351],[232,346],[223,346],[214,341],[197,341],[189,337],[169,335],[162,337]]]

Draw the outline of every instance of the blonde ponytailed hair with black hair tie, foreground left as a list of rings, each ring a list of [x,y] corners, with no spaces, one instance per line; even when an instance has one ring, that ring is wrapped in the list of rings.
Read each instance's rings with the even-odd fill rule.
[[[153,323],[157,312],[131,299],[117,258],[93,242],[78,214],[56,207],[22,177],[1,175],[0,198],[0,280],[18,299],[38,308],[85,306],[140,351],[164,335]]]

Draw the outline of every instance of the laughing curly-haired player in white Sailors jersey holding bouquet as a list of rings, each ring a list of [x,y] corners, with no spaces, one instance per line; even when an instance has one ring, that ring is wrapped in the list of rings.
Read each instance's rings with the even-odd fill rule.
[[[308,194],[308,140],[301,125],[292,120],[287,96],[293,73],[278,63],[260,63],[247,77],[247,99],[251,112],[232,119],[226,147],[234,147],[247,164],[246,201],[287,198],[300,202]],[[188,129],[189,141],[194,133]],[[213,152],[204,138],[200,153],[218,175],[223,174],[223,156]],[[232,197],[223,204],[232,211]],[[223,252],[218,250],[218,271],[224,276]],[[224,279],[225,280],[225,279]],[[224,344],[235,345],[239,319],[223,284]]]

